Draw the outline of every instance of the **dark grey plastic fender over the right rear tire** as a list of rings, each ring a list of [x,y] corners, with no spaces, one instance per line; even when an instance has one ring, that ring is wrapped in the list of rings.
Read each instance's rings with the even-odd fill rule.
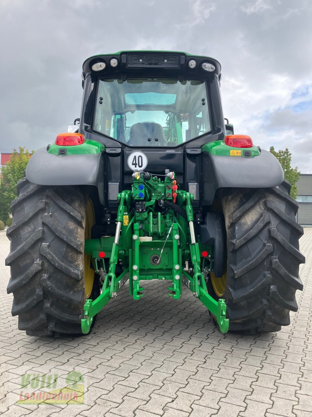
[[[269,188],[284,181],[282,166],[262,150],[253,157],[202,154],[203,205],[210,206],[218,188]]]

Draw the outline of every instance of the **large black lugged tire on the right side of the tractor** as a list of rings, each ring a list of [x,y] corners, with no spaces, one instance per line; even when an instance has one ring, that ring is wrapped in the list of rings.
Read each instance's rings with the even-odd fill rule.
[[[227,304],[229,331],[276,332],[290,324],[289,311],[298,309],[303,229],[295,221],[298,204],[289,192],[287,181],[273,188],[220,191],[228,249],[221,298]]]

